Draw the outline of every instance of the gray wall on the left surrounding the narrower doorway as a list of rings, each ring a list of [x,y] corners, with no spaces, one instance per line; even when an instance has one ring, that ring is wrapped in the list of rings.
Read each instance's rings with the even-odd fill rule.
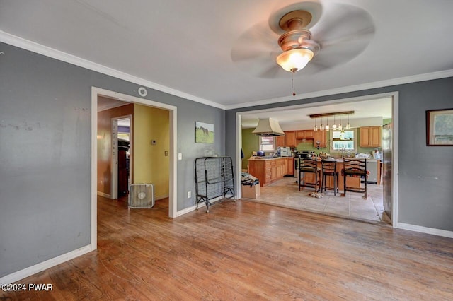
[[[139,85],[0,43],[0,277],[90,244],[91,86]],[[147,89],[178,107],[178,210],[194,205],[193,159],[225,153],[220,110]],[[215,143],[195,143],[195,121]],[[193,193],[194,194],[194,193]]]

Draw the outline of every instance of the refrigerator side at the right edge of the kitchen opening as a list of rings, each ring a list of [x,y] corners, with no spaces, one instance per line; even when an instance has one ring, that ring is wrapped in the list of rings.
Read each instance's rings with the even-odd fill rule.
[[[392,124],[382,126],[382,178],[384,181],[384,211],[391,220],[393,206],[393,187],[392,187]]]

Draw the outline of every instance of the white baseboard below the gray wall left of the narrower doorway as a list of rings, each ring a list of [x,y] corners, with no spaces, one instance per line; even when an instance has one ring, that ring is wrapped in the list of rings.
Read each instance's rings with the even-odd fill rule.
[[[55,258],[52,258],[52,259],[49,259],[46,261],[42,261],[39,264],[35,264],[34,266],[24,268],[21,271],[17,271],[17,272],[11,273],[9,275],[6,275],[4,277],[1,277],[0,285],[14,283],[23,278],[27,278],[28,276],[32,276],[35,273],[39,273],[40,271],[47,270],[47,268],[52,268],[52,266],[57,266],[59,264],[62,264],[65,261],[69,261],[71,259],[74,259],[74,258],[81,256],[83,254],[86,254],[88,252],[91,252],[91,244],[88,244],[85,247],[81,247],[79,249],[68,252],[66,254],[62,254]]]

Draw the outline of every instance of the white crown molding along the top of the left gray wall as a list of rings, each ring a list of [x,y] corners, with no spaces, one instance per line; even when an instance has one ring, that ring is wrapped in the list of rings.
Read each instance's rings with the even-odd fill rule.
[[[211,100],[199,98],[195,95],[184,93],[179,90],[168,88],[165,85],[159,85],[158,83],[153,83],[152,81],[147,81],[144,78],[132,76],[128,73],[118,71],[118,70],[110,68],[108,66],[103,66],[103,65],[97,64],[93,61],[88,61],[87,59],[82,59],[81,57],[76,57],[72,54],[68,54],[66,52],[62,52],[62,51],[59,51],[59,50],[51,48],[51,47],[40,45],[37,42],[25,40],[22,37],[18,37],[16,35],[11,35],[11,33],[6,33],[3,30],[0,30],[0,42],[4,42],[6,44],[22,48],[22,49],[28,50],[30,52],[42,54],[46,57],[51,57],[52,59],[58,59],[59,61],[64,61],[69,64],[73,64],[73,65],[76,65],[76,66],[79,66],[79,67],[82,67],[85,69],[103,73],[108,76],[113,76],[115,78],[120,78],[125,81],[130,81],[131,83],[136,83],[137,85],[143,85],[147,88],[159,90],[161,92],[175,95],[180,98],[193,100],[195,102],[200,102],[204,105],[209,105],[211,107],[217,107],[219,109],[226,110],[226,107],[224,105],[221,105],[217,102],[213,102]]]

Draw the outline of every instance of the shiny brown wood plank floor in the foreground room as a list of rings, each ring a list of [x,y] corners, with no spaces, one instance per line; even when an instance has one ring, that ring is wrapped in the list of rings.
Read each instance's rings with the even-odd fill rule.
[[[98,250],[0,300],[453,300],[453,240],[250,201],[176,219],[98,198]],[[10,299],[11,298],[11,299]]]

